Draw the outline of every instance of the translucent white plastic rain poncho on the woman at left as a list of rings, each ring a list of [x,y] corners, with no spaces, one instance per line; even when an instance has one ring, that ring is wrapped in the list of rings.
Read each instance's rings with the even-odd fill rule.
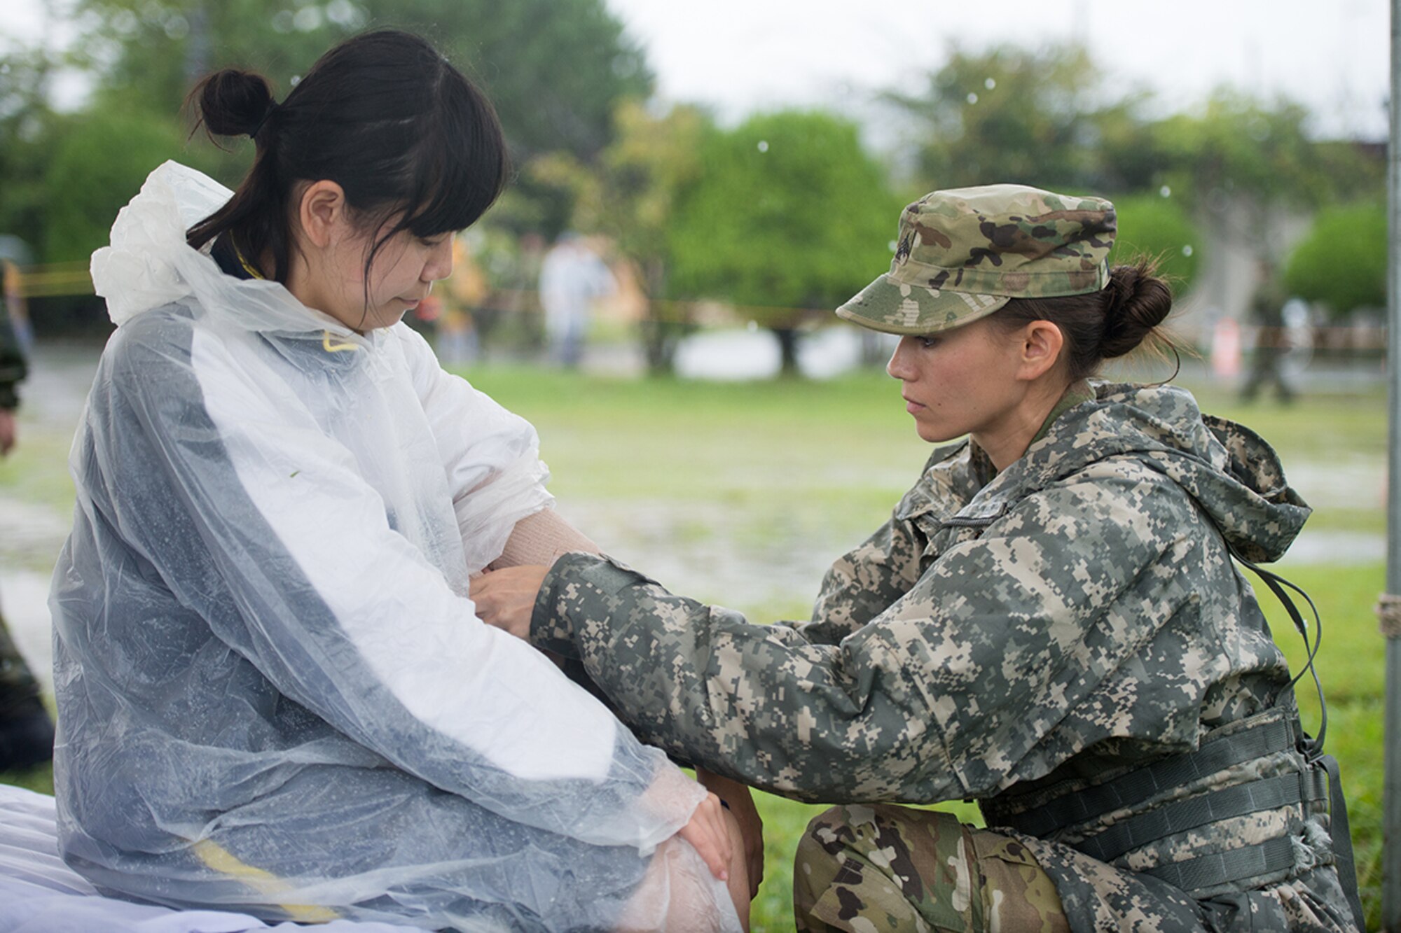
[[[64,859],[269,919],[646,927],[670,899],[738,929],[668,839],[699,785],[474,614],[551,507],[534,429],[402,324],[223,275],[184,231],[228,198],[167,163],[92,258],[118,331],[50,600]]]

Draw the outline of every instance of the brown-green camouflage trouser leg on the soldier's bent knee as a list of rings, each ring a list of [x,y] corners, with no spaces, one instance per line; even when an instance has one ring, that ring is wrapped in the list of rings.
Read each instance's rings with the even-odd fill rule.
[[[793,866],[799,930],[1069,933],[1055,885],[1009,836],[930,810],[832,807]]]

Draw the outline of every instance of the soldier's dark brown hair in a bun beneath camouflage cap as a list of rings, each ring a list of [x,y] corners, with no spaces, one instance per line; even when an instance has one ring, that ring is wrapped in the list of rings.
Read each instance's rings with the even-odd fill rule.
[[[1055,298],[1013,298],[992,321],[1007,331],[1033,321],[1049,321],[1065,338],[1062,354],[1072,380],[1094,375],[1104,360],[1140,346],[1171,352],[1177,343],[1159,326],[1173,310],[1173,290],[1157,277],[1156,263],[1139,259],[1114,266],[1098,291]]]

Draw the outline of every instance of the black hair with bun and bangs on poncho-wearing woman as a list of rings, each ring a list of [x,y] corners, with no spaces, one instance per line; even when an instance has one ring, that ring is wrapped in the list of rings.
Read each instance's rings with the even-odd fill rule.
[[[368,32],[326,52],[277,104],[268,81],[224,69],[189,95],[210,136],[254,137],[233,199],[186,233],[200,248],[223,233],[262,272],[286,283],[291,200],[303,182],[333,181],[346,203],[382,230],[436,237],[481,217],[506,185],[502,126],[486,97],[425,39]],[[198,125],[196,125],[198,126]]]

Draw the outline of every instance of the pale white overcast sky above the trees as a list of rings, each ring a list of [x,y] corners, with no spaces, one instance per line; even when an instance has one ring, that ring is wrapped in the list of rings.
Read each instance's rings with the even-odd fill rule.
[[[918,87],[953,42],[978,50],[1080,36],[1114,80],[1154,90],[1164,109],[1231,84],[1306,104],[1320,134],[1387,134],[1387,0],[605,3],[647,49],[661,97],[710,104],[729,120],[814,104],[859,115],[876,90]],[[38,38],[38,3],[4,6],[0,35]]]

